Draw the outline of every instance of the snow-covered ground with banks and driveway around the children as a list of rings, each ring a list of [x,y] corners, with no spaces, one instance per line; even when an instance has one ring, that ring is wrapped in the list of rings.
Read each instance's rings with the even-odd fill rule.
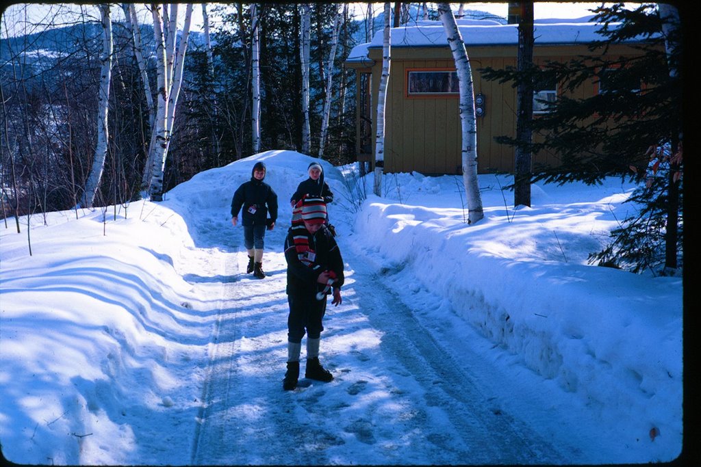
[[[280,197],[262,280],[244,272],[229,213],[256,160]],[[6,459],[648,463],[686,450],[681,278],[587,265],[632,209],[619,179],[533,186],[515,211],[508,176],[482,175],[485,218],[467,225],[459,177],[389,174],[359,206],[353,167],[322,162],[348,278],[321,340],[335,379],[283,391],[287,200],[311,160],[268,151],[160,203],[32,216],[31,256],[27,219],[20,234],[8,220]]]

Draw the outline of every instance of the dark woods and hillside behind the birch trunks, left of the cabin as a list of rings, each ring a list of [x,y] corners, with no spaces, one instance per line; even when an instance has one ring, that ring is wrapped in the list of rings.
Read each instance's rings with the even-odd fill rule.
[[[341,6],[339,6],[340,8]],[[198,4],[196,8],[201,8]],[[144,86],[122,22],[114,20],[109,95],[109,150],[96,206],[139,198],[151,127]],[[213,4],[213,64],[203,34],[191,34],[176,108],[164,190],[194,174],[252,155],[251,21],[249,4]],[[311,14],[311,155],[318,154],[325,99],[325,63],[336,8]],[[4,21],[11,20],[4,18]],[[299,4],[259,7],[261,151],[301,148]],[[343,59],[360,22],[343,18],[336,48],[331,118],[323,158],[353,160],[355,77]],[[144,57],[154,49],[152,26],[141,25]],[[69,27],[0,39],[0,176],[4,218],[71,209],[80,200],[97,139],[101,30],[94,18]],[[148,60],[156,92],[156,61]],[[210,73],[213,66],[214,74]]]

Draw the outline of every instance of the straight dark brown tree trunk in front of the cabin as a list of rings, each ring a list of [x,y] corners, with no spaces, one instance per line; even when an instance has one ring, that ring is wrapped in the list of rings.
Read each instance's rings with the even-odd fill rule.
[[[520,3],[516,66],[524,72],[533,65],[533,1]],[[531,206],[531,141],[533,139],[533,83],[520,83],[516,99],[514,206]]]

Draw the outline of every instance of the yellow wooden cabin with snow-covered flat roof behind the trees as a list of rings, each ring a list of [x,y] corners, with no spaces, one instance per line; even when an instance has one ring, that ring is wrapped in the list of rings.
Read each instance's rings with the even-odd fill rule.
[[[516,67],[518,26],[491,20],[457,20],[472,68],[477,114],[477,169],[479,173],[513,172],[514,148],[494,137],[516,134],[516,88],[510,83],[486,81],[479,69]],[[604,39],[601,25],[591,22],[538,22],[533,62],[566,62],[571,58],[600,55],[587,45]],[[356,71],[357,121],[355,151],[359,161],[374,162],[376,103],[382,69],[382,31],[370,43],[356,46],[346,65]],[[617,44],[609,55],[639,55],[634,43]],[[417,22],[391,30],[390,78],[385,106],[385,172],[460,174],[461,122],[459,90],[453,55],[440,22]],[[597,82],[580,86],[570,97],[601,92]],[[554,100],[561,91],[540,90],[534,98]],[[533,103],[533,114],[543,112]],[[533,136],[536,139],[536,135]],[[557,164],[557,155],[533,155],[533,164]]]

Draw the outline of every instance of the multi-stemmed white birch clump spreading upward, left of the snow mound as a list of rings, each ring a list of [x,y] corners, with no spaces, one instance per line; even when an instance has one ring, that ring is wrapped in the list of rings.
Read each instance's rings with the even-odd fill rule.
[[[158,4],[151,4],[151,14],[154,18],[154,39],[156,40],[156,60],[158,62],[158,105],[156,110],[156,123],[154,132],[156,137],[152,139],[154,144],[149,148],[149,160],[151,175],[149,178],[149,194],[151,200],[163,199],[163,170],[168,156],[170,136],[172,134],[173,121],[177,99],[182,85],[182,71],[185,62],[185,53],[190,34],[190,22],[192,18],[192,4],[187,4],[185,18],[180,38],[180,44],[176,53],[175,28],[177,27],[177,4],[170,6],[170,20],[168,31],[163,30],[163,20],[159,14]],[[163,18],[166,17],[165,8]]]

